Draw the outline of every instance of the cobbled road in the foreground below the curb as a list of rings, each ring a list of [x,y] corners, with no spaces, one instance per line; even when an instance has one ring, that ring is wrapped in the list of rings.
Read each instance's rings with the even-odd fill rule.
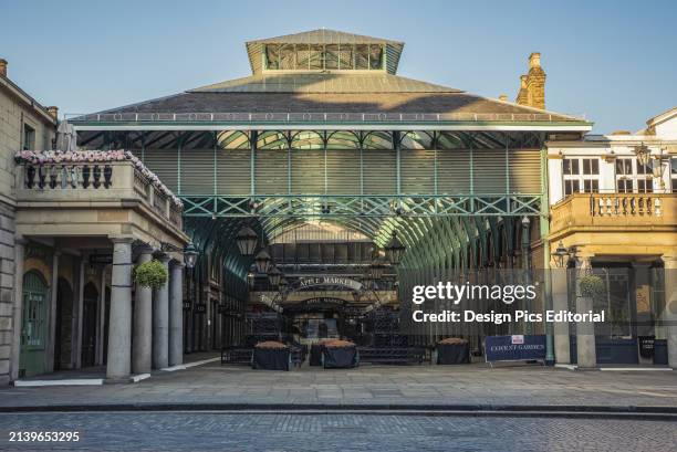
[[[108,412],[0,414],[0,450],[675,451],[677,423],[368,414]],[[77,443],[8,442],[9,431],[80,432]]]

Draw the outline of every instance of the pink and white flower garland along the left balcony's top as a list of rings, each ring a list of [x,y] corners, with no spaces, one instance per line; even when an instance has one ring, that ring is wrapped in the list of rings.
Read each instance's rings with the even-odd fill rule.
[[[124,149],[115,150],[19,150],[14,154],[18,164],[51,165],[51,164],[106,164],[113,161],[131,161],[134,167],[162,193],[167,196],[179,209],[184,203],[163,181],[150,171],[134,154]]]

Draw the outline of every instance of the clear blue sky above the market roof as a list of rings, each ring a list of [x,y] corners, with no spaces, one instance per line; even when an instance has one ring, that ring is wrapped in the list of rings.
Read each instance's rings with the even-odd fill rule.
[[[675,1],[0,0],[9,75],[90,113],[249,74],[243,42],[330,28],[406,42],[399,74],[514,98],[542,52],[546,107],[595,132],[677,106]]]

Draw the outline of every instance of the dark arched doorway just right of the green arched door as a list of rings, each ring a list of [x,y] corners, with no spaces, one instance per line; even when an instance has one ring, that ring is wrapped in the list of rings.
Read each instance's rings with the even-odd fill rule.
[[[54,332],[54,370],[73,367],[73,290],[60,277],[56,285],[56,328]]]

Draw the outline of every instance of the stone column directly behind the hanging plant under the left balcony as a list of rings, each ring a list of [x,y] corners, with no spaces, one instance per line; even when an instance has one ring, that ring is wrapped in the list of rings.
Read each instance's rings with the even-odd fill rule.
[[[144,264],[153,259],[153,250],[144,248],[137,263]],[[148,374],[153,354],[153,290],[136,285],[134,297],[134,340],[132,341],[132,371]]]

